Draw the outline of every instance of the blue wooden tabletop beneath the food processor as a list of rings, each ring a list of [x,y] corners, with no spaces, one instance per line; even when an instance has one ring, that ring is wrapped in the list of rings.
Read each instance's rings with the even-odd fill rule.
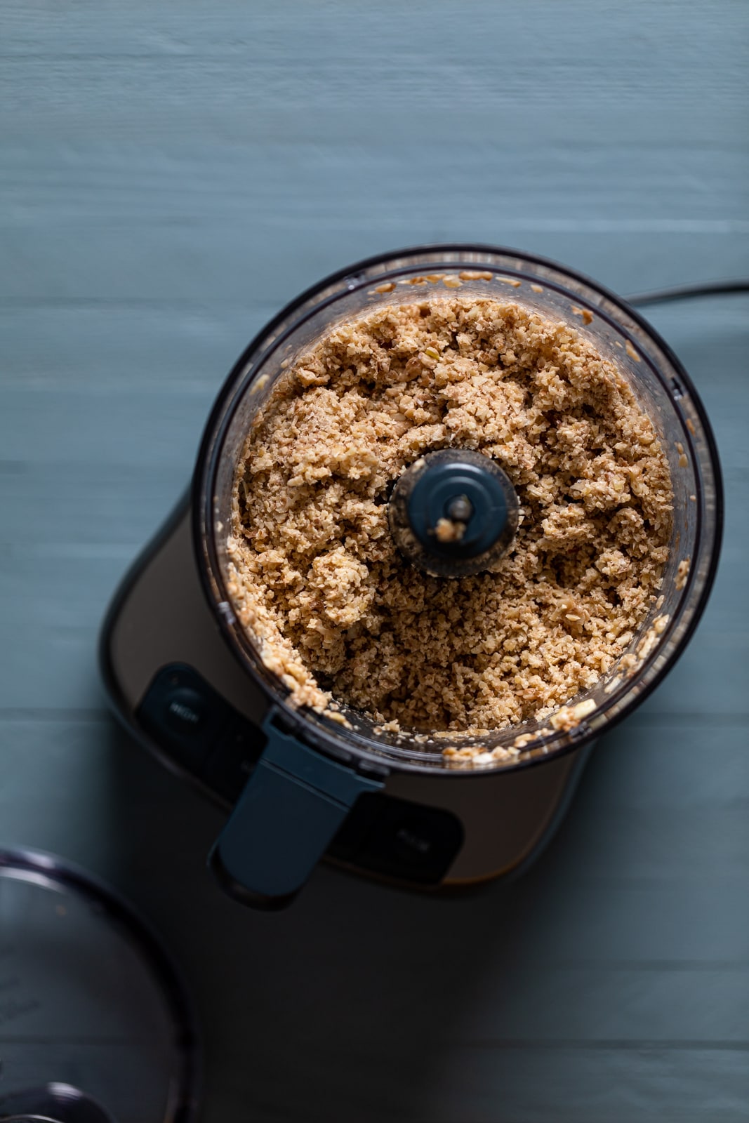
[[[220,815],[95,667],[226,372],[325,273],[433,240],[623,293],[748,272],[748,36],[741,0],[1,6],[0,843],[156,924],[204,1123],[749,1117],[746,298],[649,313],[714,422],[722,565],[523,880],[441,901],[320,869],[244,911],[203,868]]]

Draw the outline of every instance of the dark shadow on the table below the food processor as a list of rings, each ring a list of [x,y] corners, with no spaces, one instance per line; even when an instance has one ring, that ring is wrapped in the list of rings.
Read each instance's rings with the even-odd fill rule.
[[[112,877],[195,995],[205,1123],[431,1121],[491,966],[542,947],[555,848],[514,884],[417,895],[319,868],[285,912],[222,895],[205,856],[223,821],[112,722]]]

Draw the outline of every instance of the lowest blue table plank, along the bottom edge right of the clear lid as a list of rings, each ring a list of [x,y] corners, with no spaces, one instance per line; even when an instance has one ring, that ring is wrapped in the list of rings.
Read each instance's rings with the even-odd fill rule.
[[[400,1043],[400,1042],[399,1042]],[[366,1051],[365,1051],[366,1050]],[[281,1050],[263,1053],[261,1069],[281,1088],[268,1095],[265,1080],[253,1102],[258,1119],[290,1123],[298,1119],[356,1119],[362,1123],[743,1123],[746,1053],[710,1050],[668,1052],[647,1048],[622,1052],[538,1049],[435,1049],[420,1063],[413,1047],[395,1052],[381,1044],[338,1058],[335,1081],[326,1079],[318,1042],[304,1042],[303,1060]],[[237,1068],[246,1054],[237,1056]],[[366,1098],[360,1088],[367,1088]],[[219,1093],[219,1110],[239,1102],[240,1081]],[[313,1106],[310,1107],[310,1104]],[[568,1106],[574,1104],[574,1114]],[[317,1114],[316,1114],[317,1112]]]

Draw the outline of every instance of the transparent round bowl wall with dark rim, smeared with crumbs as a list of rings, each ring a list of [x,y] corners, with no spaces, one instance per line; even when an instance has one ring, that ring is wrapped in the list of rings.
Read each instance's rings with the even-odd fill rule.
[[[459,274],[466,272],[491,272],[492,280],[460,279]],[[441,282],[419,280],[433,273],[458,277],[462,285],[453,289]],[[394,289],[382,291],[390,283]],[[661,586],[664,603],[651,609],[630,651],[637,652],[638,647],[642,650],[656,617],[667,614],[668,623],[631,677],[620,679],[614,667],[592,690],[577,695],[575,702],[590,697],[595,710],[570,732],[544,731],[544,722],[527,722],[479,739],[455,733],[424,745],[409,733],[375,733],[373,721],[348,709],[345,713],[350,730],[310,711],[298,712],[286,704],[286,688],[265,668],[252,638],[236,621],[226,591],[226,528],[231,519],[235,467],[246,433],[276,378],[334,323],[383,304],[455,295],[513,301],[565,320],[592,339],[629,380],[668,457],[675,499],[672,548]],[[573,305],[578,314],[573,312]],[[587,325],[579,316],[583,309],[593,313]],[[484,770],[548,759],[597,736],[629,712],[674,664],[697,622],[716,565],[722,508],[718,457],[704,410],[678,360],[649,325],[612,293],[552,262],[517,250],[466,246],[403,250],[364,262],[309,290],[268,325],[237,363],[216,404],[199,458],[194,503],[199,563],[220,627],[266,694],[282,707],[290,725],[341,759],[382,763],[385,758],[399,768],[428,772],[455,767],[442,756],[449,745],[462,748],[481,743],[491,750],[509,747],[519,733],[532,734],[521,756],[493,760],[483,766]],[[688,576],[682,584],[677,582],[677,567],[686,559]],[[652,639],[650,632],[648,642],[652,643]]]

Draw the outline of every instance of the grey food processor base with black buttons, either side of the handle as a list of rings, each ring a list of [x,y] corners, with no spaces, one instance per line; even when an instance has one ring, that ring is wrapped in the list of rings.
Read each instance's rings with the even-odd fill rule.
[[[267,703],[208,608],[190,519],[185,496],[125,577],[100,659],[130,732],[228,810],[263,750]],[[504,774],[391,774],[359,796],[326,857],[421,889],[522,871],[561,821],[591,747]]]

